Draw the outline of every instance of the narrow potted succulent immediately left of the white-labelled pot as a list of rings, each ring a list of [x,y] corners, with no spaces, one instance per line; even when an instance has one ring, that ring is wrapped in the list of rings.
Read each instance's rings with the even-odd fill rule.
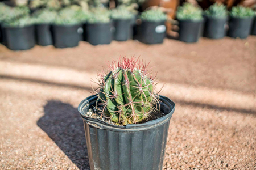
[[[114,40],[127,41],[132,32],[132,20],[134,19],[133,13],[127,8],[115,8],[111,11],[111,18],[114,24]]]

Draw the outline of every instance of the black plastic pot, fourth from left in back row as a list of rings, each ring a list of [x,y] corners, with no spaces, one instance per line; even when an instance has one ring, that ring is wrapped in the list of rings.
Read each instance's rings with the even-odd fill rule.
[[[84,39],[92,45],[110,44],[112,23],[85,24]]]

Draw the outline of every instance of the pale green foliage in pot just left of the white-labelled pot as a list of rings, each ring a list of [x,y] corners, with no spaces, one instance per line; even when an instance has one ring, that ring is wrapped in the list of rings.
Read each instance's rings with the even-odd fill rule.
[[[131,19],[134,14],[127,8],[115,8],[111,11],[112,19]]]

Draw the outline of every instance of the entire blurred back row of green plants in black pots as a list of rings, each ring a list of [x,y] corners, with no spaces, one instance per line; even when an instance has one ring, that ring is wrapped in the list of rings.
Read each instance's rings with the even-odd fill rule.
[[[127,6],[119,6],[111,11],[106,8],[88,11],[72,5],[59,11],[43,8],[29,15],[28,7],[11,8],[0,4],[0,8],[0,36],[3,44],[12,50],[30,49],[36,42],[42,46],[66,48],[77,46],[81,40],[93,45],[110,44],[113,39],[126,41],[133,37],[137,18],[141,20],[137,40],[156,44],[162,43],[166,36],[167,15],[160,9],[147,10],[138,15],[136,10]],[[228,18],[228,36],[246,38],[254,16],[253,10],[241,6],[233,7],[229,13],[224,5],[216,3],[203,12],[199,7],[184,3],[176,14],[179,21],[178,39],[197,42],[201,35],[220,39],[226,35]],[[252,33],[256,32],[254,29]]]

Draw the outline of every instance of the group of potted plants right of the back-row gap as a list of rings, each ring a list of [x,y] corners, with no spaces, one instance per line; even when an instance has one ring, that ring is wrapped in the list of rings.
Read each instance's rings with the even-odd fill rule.
[[[200,7],[184,3],[178,7],[176,18],[179,21],[178,39],[184,42],[197,42],[202,35],[220,39],[227,34],[245,39],[250,32],[253,35],[256,32],[255,11],[242,6],[234,6],[229,12],[226,6],[215,3],[203,12]]]

